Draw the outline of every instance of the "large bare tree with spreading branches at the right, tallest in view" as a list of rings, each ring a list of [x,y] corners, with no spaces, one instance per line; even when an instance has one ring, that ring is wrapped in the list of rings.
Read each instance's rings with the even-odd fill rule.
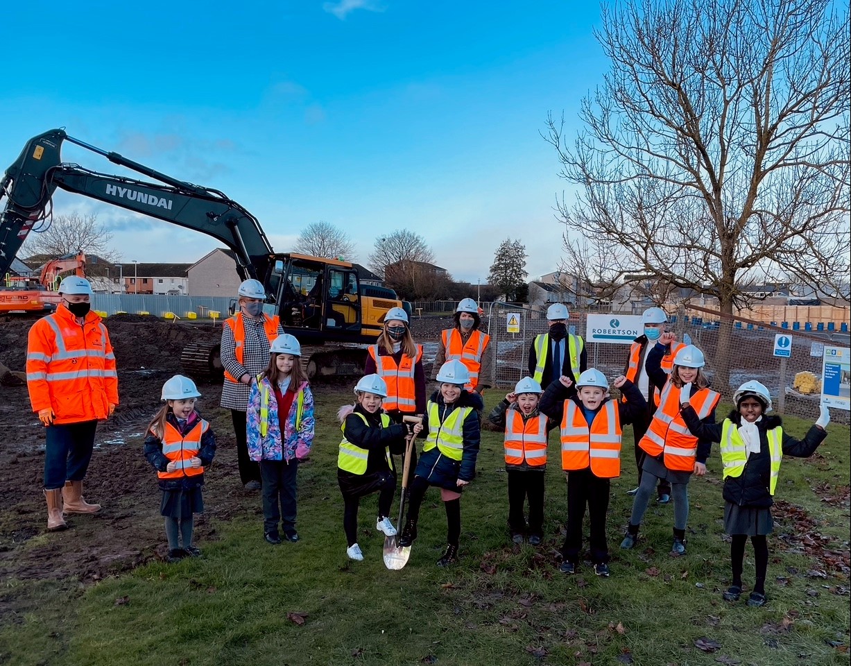
[[[568,270],[654,275],[717,296],[780,268],[848,276],[848,12],[828,0],[625,0],[603,8],[611,60],[572,146],[548,119]],[[586,276],[589,282],[591,275]],[[596,276],[600,278],[601,276]],[[728,320],[722,318],[722,322]],[[731,327],[717,359],[728,384]]]

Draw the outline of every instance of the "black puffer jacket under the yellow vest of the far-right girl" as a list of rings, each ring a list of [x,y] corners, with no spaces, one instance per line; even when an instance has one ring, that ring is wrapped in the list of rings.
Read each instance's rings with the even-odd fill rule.
[[[692,434],[701,439],[721,441],[722,423],[701,423],[694,408],[689,405],[683,411],[683,420]],[[731,411],[724,422],[732,422],[736,428],[741,424],[738,411]],[[740,476],[728,476],[724,482],[724,499],[740,507],[768,508],[774,503],[769,491],[771,482],[771,454],[768,451],[768,430],[778,428],[782,423],[780,416],[762,416],[757,422],[759,430],[759,453],[751,453],[745,462],[745,470]],[[783,433],[783,455],[796,458],[808,458],[825,440],[827,433],[818,426],[812,426],[804,439],[795,439]],[[781,465],[782,468],[782,465]]]

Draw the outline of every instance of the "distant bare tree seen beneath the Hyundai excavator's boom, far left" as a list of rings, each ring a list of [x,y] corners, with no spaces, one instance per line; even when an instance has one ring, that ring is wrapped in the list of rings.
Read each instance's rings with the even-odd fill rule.
[[[117,261],[119,253],[110,247],[112,234],[98,222],[97,213],[81,214],[77,211],[67,215],[54,215],[39,227],[33,229],[26,238],[26,247],[32,255],[49,257],[64,256],[83,252],[98,255],[104,261]]]

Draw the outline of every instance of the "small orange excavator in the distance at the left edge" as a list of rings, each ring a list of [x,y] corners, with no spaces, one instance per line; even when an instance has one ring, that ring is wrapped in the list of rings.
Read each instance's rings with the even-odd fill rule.
[[[59,278],[74,271],[81,278],[86,277],[86,255],[60,256],[51,259],[42,267],[38,282],[33,278],[7,275],[5,286],[0,287],[0,314],[44,314],[53,312],[59,305]]]

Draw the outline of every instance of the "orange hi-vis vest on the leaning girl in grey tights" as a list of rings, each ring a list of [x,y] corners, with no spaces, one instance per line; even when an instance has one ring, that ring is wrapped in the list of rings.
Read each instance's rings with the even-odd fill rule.
[[[696,391],[689,405],[694,407],[697,417],[702,421],[709,416],[718,400],[720,393],[710,388]],[[688,431],[683,416],[680,416],[680,389],[669,379],[662,389],[662,399],[659,409],[653,416],[647,433],[638,445],[648,456],[659,456],[665,453],[665,468],[677,472],[691,472],[697,457],[697,438]]]

